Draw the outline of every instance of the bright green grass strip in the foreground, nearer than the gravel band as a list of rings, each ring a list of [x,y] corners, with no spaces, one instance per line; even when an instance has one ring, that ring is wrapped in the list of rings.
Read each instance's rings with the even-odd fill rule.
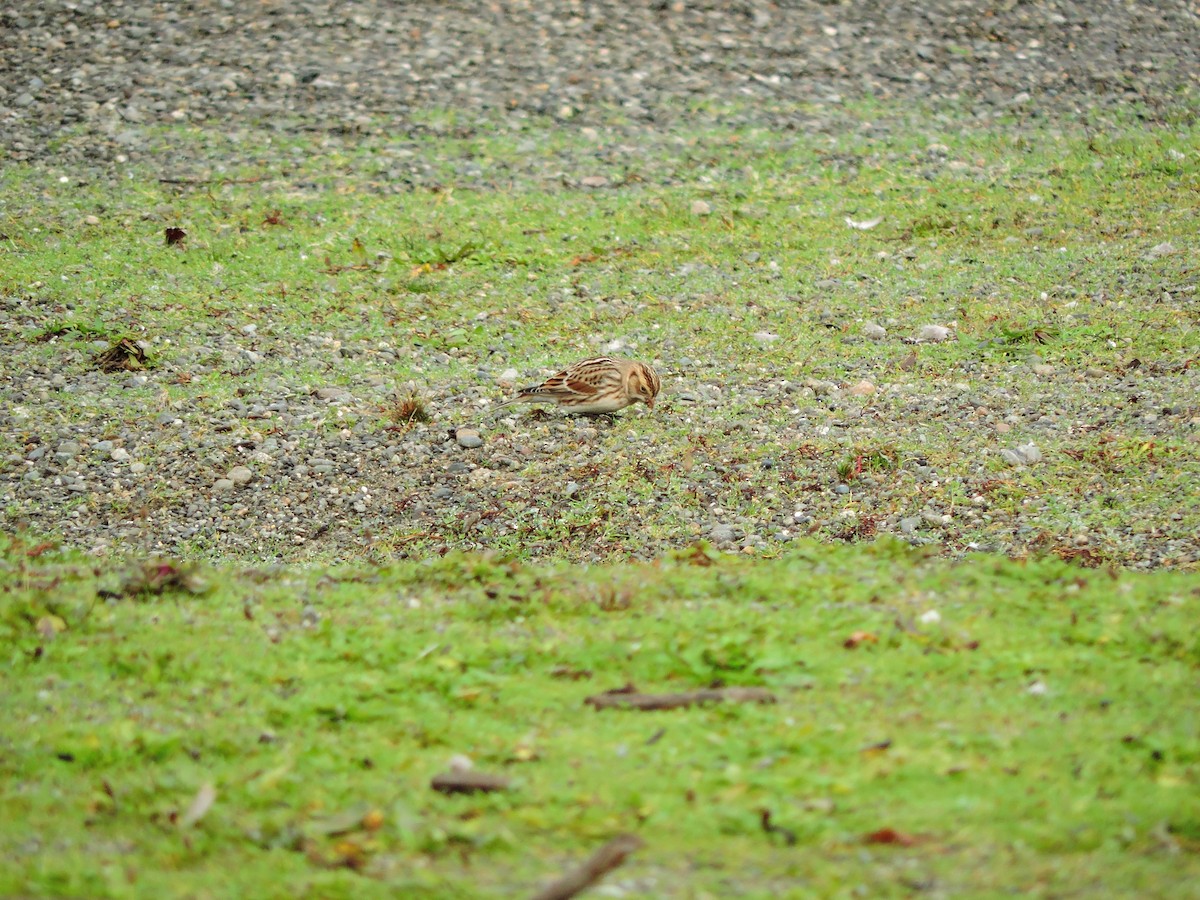
[[[647,846],[611,880],[654,896],[1200,878],[1195,576],[892,541],[149,580],[5,560],[5,895],[520,896],[620,832]],[[778,702],[583,704],[628,680]],[[512,788],[432,792],[455,754]],[[914,842],[865,842],[884,828]]]

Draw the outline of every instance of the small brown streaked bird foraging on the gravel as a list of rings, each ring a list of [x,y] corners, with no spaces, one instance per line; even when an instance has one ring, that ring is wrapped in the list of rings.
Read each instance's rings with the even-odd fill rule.
[[[616,413],[634,403],[654,409],[662,380],[644,362],[614,356],[590,356],[521,390],[500,403],[553,403],[575,415]]]

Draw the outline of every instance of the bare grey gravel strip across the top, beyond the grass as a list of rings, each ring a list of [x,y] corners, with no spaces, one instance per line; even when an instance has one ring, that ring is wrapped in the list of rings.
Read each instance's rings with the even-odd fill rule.
[[[410,128],[430,107],[670,128],[737,101],[962,98],[980,116],[1150,114],[1200,83],[1190,0],[262,2],[38,0],[0,8],[0,134],[14,160],[103,168],[142,126]],[[746,103],[746,101],[754,101]],[[715,115],[715,113],[714,113]],[[500,126],[503,127],[503,125]]]

